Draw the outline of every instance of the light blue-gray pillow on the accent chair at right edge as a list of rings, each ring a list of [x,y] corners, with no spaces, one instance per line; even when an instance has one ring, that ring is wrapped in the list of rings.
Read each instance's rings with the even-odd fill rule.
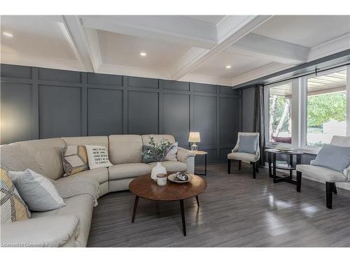
[[[350,147],[325,144],[318,152],[312,165],[343,172],[345,168],[350,166]]]

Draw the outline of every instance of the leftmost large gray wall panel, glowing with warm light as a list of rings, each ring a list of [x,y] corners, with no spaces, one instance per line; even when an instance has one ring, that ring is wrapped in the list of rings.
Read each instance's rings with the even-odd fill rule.
[[[1,144],[32,138],[31,108],[31,85],[1,83]]]

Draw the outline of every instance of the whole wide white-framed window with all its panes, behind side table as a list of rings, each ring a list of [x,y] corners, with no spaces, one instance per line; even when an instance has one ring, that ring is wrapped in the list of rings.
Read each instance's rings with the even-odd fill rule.
[[[350,66],[265,86],[267,146],[317,153],[332,136],[350,136]]]

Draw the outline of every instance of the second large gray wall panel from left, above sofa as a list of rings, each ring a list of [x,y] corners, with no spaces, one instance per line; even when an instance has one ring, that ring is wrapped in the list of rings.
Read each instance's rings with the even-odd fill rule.
[[[83,136],[80,87],[39,85],[40,138]]]

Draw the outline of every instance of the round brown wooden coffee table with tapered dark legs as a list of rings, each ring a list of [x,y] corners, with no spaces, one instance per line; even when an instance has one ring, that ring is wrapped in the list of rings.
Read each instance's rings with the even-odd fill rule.
[[[183,184],[176,184],[168,180],[167,185],[162,187],[158,186],[157,182],[154,182],[151,179],[150,174],[137,177],[129,184],[130,191],[136,196],[134,212],[132,213],[132,223],[134,223],[135,220],[139,198],[145,198],[153,201],[180,201],[183,235],[186,235],[186,221],[183,201],[195,196],[197,199],[197,205],[200,206],[198,195],[201,194],[206,188],[207,182],[202,177],[197,175],[193,175],[193,179],[190,182]]]

